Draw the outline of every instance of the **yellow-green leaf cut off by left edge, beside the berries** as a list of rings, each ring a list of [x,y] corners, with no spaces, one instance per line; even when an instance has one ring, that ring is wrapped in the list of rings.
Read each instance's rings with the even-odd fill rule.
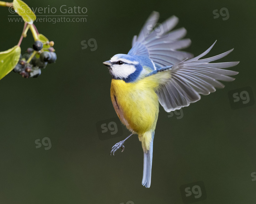
[[[20,47],[18,45],[13,48],[0,52],[0,79],[5,77],[19,61]]]

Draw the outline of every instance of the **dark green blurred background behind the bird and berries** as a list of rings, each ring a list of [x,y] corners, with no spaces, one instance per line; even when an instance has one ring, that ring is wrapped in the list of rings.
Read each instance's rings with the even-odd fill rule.
[[[253,0],[182,1],[25,1],[30,7],[86,7],[87,22],[36,22],[55,42],[56,64],[39,78],[11,72],[0,81],[0,203],[3,204],[182,204],[180,186],[202,181],[207,198],[198,203],[256,203],[255,105],[231,109],[228,92],[251,87],[255,93],[255,6]],[[226,7],[229,19],[214,19]],[[102,64],[127,53],[152,11],[160,19],[179,17],[195,56],[216,45],[207,57],[235,48],[221,61],[241,61],[230,69],[236,80],[197,103],[184,116],[168,117],[162,107],[155,131],[152,183],[141,185],[143,150],[137,136],[125,151],[110,156],[111,147],[128,136],[100,140],[96,123],[116,117],[110,99],[111,76]],[[35,13],[39,15],[38,13]],[[0,50],[18,43],[22,22],[9,22],[0,7]],[[45,14],[41,14],[45,15]],[[78,14],[66,14],[78,15]],[[82,49],[94,38],[97,49]],[[30,31],[22,53],[33,44]],[[252,95],[250,96],[253,97]],[[35,148],[48,137],[50,150]]]

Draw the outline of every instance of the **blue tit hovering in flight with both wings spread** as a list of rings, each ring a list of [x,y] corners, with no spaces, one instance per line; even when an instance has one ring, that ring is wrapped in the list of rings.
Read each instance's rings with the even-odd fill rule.
[[[190,45],[190,39],[182,39],[186,29],[171,31],[178,23],[172,16],[161,23],[161,32],[154,29],[159,13],[153,12],[138,37],[134,36],[128,54],[116,54],[103,62],[112,76],[111,100],[120,121],[137,134],[144,152],[142,185],[151,184],[153,140],[159,112],[159,103],[167,112],[188,106],[200,100],[201,95],[224,88],[219,81],[233,81],[238,74],[223,68],[239,62],[209,63],[228,55],[233,49],[214,57],[205,56],[214,44],[197,57],[180,51]],[[120,147],[124,151],[125,140],[116,143],[111,153]],[[110,153],[110,154],[111,154]]]

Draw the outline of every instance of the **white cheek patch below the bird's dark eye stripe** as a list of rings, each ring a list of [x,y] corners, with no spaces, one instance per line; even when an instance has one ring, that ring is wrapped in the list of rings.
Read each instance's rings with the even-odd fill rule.
[[[112,74],[115,77],[119,77],[119,78],[127,78],[130,74],[132,74],[133,72],[135,72],[136,68],[133,65],[129,65],[129,64],[122,64],[122,65],[118,65],[118,64],[114,64],[112,66]]]

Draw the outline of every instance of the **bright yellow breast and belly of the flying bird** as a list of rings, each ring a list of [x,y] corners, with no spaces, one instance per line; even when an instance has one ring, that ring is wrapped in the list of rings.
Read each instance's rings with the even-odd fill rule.
[[[138,135],[155,129],[159,109],[157,86],[150,77],[133,83],[112,79],[111,100],[115,111],[122,123]]]

